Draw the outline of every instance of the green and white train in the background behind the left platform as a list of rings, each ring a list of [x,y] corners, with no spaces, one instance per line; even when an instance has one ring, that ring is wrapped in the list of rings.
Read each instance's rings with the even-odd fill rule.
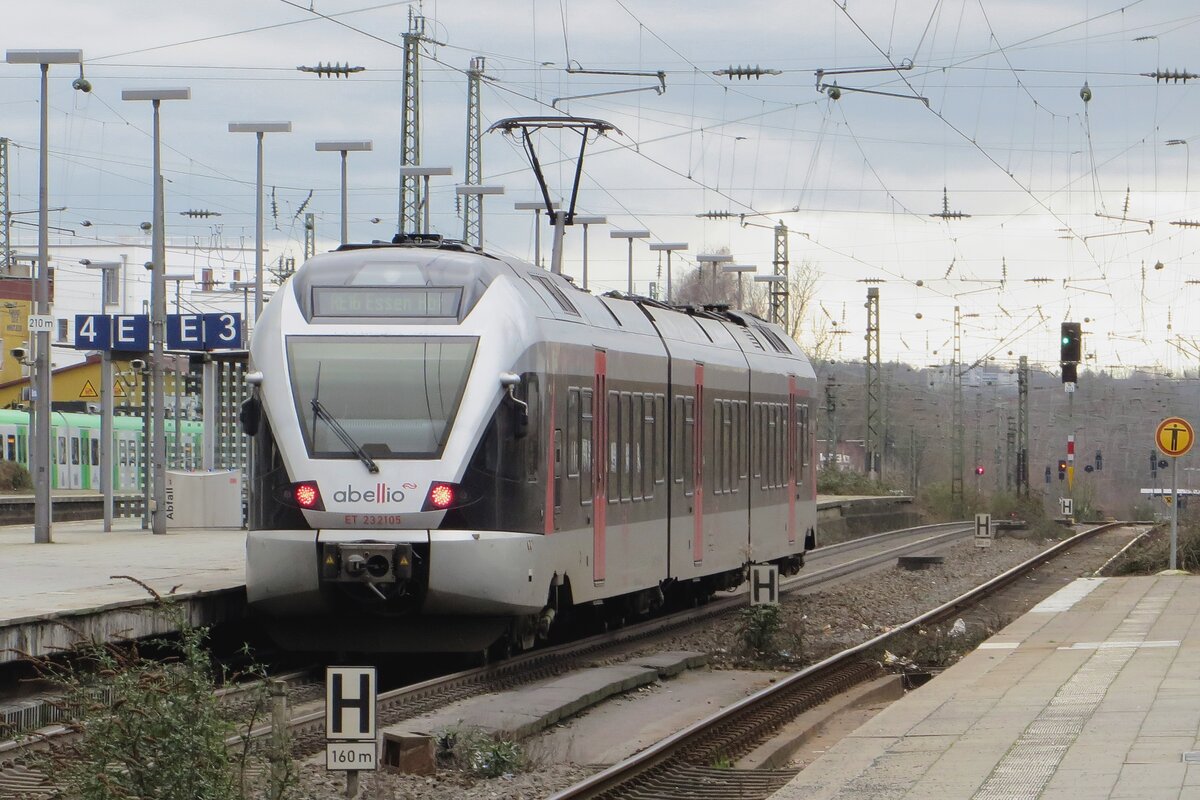
[[[175,420],[169,416],[167,453],[175,452]],[[181,469],[192,469],[202,452],[203,423],[184,420]],[[0,455],[29,467],[29,413],[0,409]],[[145,447],[140,416],[113,417],[113,491],[142,489]],[[100,491],[100,415],[54,411],[50,416],[50,486]]]

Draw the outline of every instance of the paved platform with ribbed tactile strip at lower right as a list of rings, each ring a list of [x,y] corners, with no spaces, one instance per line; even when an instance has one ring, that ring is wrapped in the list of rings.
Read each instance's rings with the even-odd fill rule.
[[[1081,578],[773,800],[1200,800],[1200,577]]]

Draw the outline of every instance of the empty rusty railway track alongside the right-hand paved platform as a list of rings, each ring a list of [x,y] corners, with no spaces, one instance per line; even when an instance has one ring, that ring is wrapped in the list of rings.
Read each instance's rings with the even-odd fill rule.
[[[1066,539],[949,602],[721,709],[552,795],[550,800],[671,800],[704,796],[751,800],[769,796],[791,780],[797,770],[714,769],[714,764],[731,764],[787,720],[877,675],[878,667],[874,660],[868,661],[865,657],[871,651],[919,626],[961,614],[1060,553],[1122,524],[1098,525]]]

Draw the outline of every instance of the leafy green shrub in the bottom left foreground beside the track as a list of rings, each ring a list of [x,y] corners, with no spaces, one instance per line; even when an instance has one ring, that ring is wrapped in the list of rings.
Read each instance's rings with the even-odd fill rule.
[[[151,593],[154,594],[154,593]],[[214,693],[217,672],[205,648],[206,630],[188,624],[184,609],[155,595],[157,613],[179,630],[176,639],[148,643],[88,643],[67,662],[41,662],[42,673],[62,688],[67,724],[80,735],[44,751],[38,766],[72,800],[158,800],[198,798],[245,800],[264,787],[263,753],[244,738],[240,752],[226,746],[239,723]],[[260,674],[260,670],[258,670]],[[260,723],[265,685],[246,729]],[[290,760],[277,753],[282,772],[271,778],[270,800],[287,795]]]

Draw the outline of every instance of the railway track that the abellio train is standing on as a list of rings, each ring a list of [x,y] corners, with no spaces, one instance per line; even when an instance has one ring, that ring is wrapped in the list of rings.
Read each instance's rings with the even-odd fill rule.
[[[901,555],[944,546],[972,533],[973,527],[966,523],[946,523],[889,531],[818,548],[809,554],[809,566],[802,575],[780,582],[780,591],[786,594],[814,589]],[[744,594],[744,590],[739,590],[697,608],[676,612],[580,642],[535,650],[497,664],[467,669],[383,692],[379,694],[378,723],[395,724],[460,699],[559,675],[606,651],[702,625],[740,608],[745,603]],[[299,687],[295,696],[290,696],[289,692],[292,708],[288,728],[292,752],[296,758],[306,758],[324,748],[324,687],[319,680],[313,680],[310,673],[298,673],[288,676],[288,680]],[[241,702],[236,697],[245,696],[247,691],[228,690],[229,702]],[[252,740],[265,744],[271,730],[270,724],[262,724],[250,730],[248,735]],[[65,727],[58,726],[43,728],[37,736],[23,741],[0,742],[0,800],[38,796],[40,792],[48,795],[52,787],[44,783],[44,777],[28,769],[26,756],[29,748],[53,745],[55,736],[67,733]],[[232,738],[229,744],[241,745],[242,741],[241,736],[236,736]]]

